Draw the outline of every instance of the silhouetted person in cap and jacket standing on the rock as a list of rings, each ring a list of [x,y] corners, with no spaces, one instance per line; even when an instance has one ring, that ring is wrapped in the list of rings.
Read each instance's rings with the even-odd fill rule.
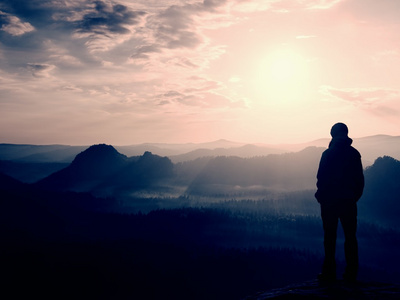
[[[317,173],[315,197],[321,204],[321,218],[324,228],[325,260],[322,281],[336,280],[336,232],[340,220],[344,236],[346,270],[343,278],[356,281],[358,272],[357,201],[364,189],[364,174],[360,153],[351,146],[347,126],[336,123],[332,126],[332,140],[329,148],[322,153]]]

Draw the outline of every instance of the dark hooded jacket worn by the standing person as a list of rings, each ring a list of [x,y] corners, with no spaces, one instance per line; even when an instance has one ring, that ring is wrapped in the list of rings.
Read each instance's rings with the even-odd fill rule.
[[[321,204],[357,202],[364,189],[360,153],[351,146],[352,139],[335,137],[322,153],[317,173],[315,197]]]

